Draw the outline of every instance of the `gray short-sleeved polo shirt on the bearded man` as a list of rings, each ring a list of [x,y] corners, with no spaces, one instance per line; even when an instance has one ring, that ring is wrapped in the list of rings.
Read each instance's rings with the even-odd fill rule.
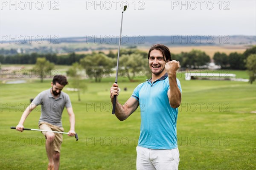
[[[60,96],[55,99],[51,94],[51,88],[38,94],[32,103],[41,105],[39,123],[47,122],[58,127],[62,127],[61,116],[64,107],[72,107],[68,94],[61,91]]]

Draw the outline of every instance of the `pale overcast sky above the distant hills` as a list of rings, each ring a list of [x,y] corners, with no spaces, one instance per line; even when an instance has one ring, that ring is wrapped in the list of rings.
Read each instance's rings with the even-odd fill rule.
[[[1,0],[0,34],[256,35],[255,0]]]

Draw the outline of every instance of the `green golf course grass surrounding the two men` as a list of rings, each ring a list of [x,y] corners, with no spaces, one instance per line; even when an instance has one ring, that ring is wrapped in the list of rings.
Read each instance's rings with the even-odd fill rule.
[[[232,73],[230,71],[230,73]],[[246,73],[239,72],[241,77]],[[120,77],[119,102],[131,96],[138,82]],[[191,80],[179,77],[182,104],[177,120],[180,170],[253,170],[256,167],[256,86],[247,82]],[[71,81],[71,80],[70,80]],[[87,91],[70,95],[76,114],[79,141],[64,135],[62,170],[136,169],[136,146],[140,134],[140,112],[120,122],[111,114],[109,88],[114,79],[101,83],[86,80]],[[71,84],[71,83],[70,83]],[[69,85],[67,85],[69,87]],[[122,89],[126,87],[128,91]],[[44,136],[40,132],[11,130],[24,106],[39,92],[50,88],[50,80],[0,85],[0,169],[42,170],[47,168]],[[25,127],[38,128],[40,109],[33,111]],[[62,122],[69,130],[67,111]]]

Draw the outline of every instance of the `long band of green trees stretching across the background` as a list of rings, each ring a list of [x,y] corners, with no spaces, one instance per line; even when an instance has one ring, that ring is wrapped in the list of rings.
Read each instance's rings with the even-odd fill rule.
[[[121,49],[120,54],[119,67],[122,68],[122,70],[125,70],[126,77],[128,77],[130,81],[133,81],[135,75],[138,73],[146,75],[147,77],[151,76],[151,71],[148,67],[147,52],[140,51],[137,48],[125,48]],[[245,70],[246,68],[250,67],[252,70],[254,69],[255,72],[255,67],[253,66],[255,57],[249,57],[251,54],[256,54],[256,46],[247,49],[243,54],[234,52],[227,55],[225,53],[215,52],[213,60],[216,65],[221,66],[221,69]],[[42,60],[42,58],[44,59]],[[109,54],[104,54],[103,52],[93,52],[92,54],[75,54],[73,52],[68,55],[60,56],[57,56],[56,54],[32,53],[15,54],[12,56],[0,55],[0,62],[2,64],[36,65],[40,65],[40,62],[43,62],[47,63],[47,65],[51,65],[50,68],[47,68],[47,71],[52,69],[53,64],[73,65],[75,68],[78,68],[79,66],[79,68],[86,71],[87,76],[94,78],[96,82],[100,82],[103,72],[109,71],[111,73],[111,71],[113,71],[112,68],[115,68],[116,66],[116,58],[117,53],[113,53],[112,51],[110,51]],[[200,50],[172,54],[172,59],[180,62],[181,69],[207,68],[207,64],[209,64],[211,61],[209,55]],[[255,77],[255,74],[252,73],[251,75],[252,77],[253,75]]]

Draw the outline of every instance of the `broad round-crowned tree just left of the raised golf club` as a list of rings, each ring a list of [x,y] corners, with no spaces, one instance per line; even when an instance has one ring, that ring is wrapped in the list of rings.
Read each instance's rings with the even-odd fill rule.
[[[86,70],[89,77],[94,77],[95,82],[101,82],[103,76],[109,76],[105,73],[110,73],[114,66],[113,59],[105,54],[93,53],[80,60],[82,67]]]

